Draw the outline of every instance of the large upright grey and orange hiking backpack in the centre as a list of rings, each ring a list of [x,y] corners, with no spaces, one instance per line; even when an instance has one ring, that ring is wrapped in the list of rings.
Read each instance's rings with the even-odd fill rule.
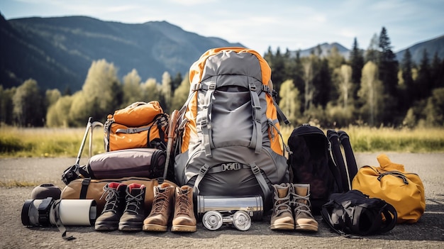
[[[196,195],[261,195],[289,182],[286,118],[273,98],[271,69],[247,48],[206,51],[189,70],[191,89],[179,111],[174,173]],[[286,121],[288,123],[288,121]]]

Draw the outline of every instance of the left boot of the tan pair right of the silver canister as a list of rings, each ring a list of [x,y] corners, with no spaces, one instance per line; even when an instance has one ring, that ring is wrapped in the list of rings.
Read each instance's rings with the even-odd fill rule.
[[[273,185],[273,213],[271,218],[272,230],[294,230],[294,218],[290,208],[290,194],[292,192],[289,183]]]

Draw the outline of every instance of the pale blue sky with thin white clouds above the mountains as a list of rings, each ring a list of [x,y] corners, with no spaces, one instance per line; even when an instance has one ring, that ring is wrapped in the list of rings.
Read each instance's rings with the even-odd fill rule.
[[[338,42],[366,49],[382,27],[394,52],[444,35],[444,0],[1,0],[6,19],[90,16],[102,21],[167,21],[185,31],[242,43],[260,53]]]

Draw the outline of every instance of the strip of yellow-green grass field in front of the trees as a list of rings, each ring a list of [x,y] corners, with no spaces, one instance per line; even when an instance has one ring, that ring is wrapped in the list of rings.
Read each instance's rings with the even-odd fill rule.
[[[342,128],[350,135],[355,153],[401,152],[444,153],[444,128]],[[287,143],[292,127],[283,127]],[[326,130],[324,130],[326,131]],[[14,128],[0,127],[0,157],[77,157],[84,128]],[[104,152],[102,128],[93,132],[92,155]],[[83,153],[88,153],[89,136]],[[87,155],[87,154],[84,154]]]

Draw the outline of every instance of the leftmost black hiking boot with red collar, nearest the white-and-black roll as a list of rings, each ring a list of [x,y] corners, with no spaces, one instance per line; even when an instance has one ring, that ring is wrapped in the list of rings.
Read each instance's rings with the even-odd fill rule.
[[[96,218],[94,229],[98,231],[113,231],[118,228],[118,221],[120,220],[123,210],[125,209],[125,194],[126,184],[119,184],[118,182],[110,182],[104,187],[103,198],[106,194],[106,204],[104,211]]]

